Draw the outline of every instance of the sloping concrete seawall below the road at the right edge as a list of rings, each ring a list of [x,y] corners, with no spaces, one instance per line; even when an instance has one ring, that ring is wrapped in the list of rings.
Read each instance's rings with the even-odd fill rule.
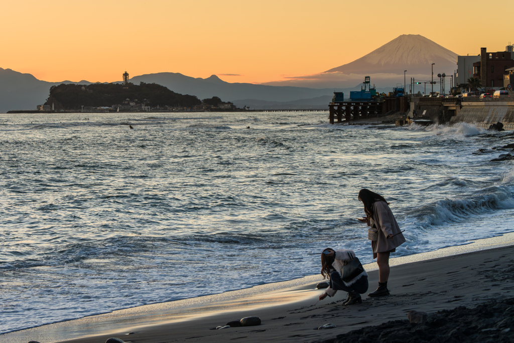
[[[463,101],[450,123],[476,123],[488,129],[491,124],[501,122],[505,130],[514,130],[514,101]]]

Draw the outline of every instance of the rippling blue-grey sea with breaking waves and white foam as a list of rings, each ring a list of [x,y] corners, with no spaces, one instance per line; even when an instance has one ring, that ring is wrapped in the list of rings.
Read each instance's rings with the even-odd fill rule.
[[[0,333],[318,274],[325,247],[372,262],[361,188],[394,256],[513,230],[513,164],[476,154],[502,134],[327,116],[0,115]]]

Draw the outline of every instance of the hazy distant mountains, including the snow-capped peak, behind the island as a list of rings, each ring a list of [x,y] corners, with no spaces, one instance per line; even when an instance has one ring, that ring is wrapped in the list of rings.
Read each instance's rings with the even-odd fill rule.
[[[179,73],[146,74],[135,76],[130,81],[135,84],[157,83],[173,92],[194,95],[199,99],[216,96],[223,101],[255,109],[319,108],[326,106],[333,92],[349,95],[351,90],[360,89],[364,76],[371,76],[372,84],[388,92],[397,83],[403,83],[403,70],[408,70],[407,80],[411,76],[428,80],[432,63],[435,63],[434,74],[451,74],[456,68],[456,60],[456,53],[421,35],[403,34],[351,63],[320,74],[290,78],[289,81],[229,83],[215,75],[202,79]],[[61,83],[91,84],[88,81],[47,82],[30,74],[0,68],[0,112],[35,110],[36,105],[45,102],[50,87]],[[423,87],[419,89],[423,90]]]

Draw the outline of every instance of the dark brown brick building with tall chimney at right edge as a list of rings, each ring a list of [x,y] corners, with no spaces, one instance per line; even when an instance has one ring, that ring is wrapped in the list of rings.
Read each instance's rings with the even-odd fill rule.
[[[473,77],[482,81],[483,87],[503,87],[503,75],[509,68],[514,67],[514,52],[488,52],[480,48],[480,61],[473,63]]]

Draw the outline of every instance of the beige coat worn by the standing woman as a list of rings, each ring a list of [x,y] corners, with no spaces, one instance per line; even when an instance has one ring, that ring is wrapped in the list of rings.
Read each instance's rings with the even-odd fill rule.
[[[378,240],[376,244],[372,244],[373,257],[376,258],[377,252],[393,250],[397,246],[405,243],[405,237],[403,237],[403,234],[400,232],[400,227],[386,202],[375,202],[371,210],[373,212],[373,221],[378,229]],[[393,239],[387,239],[390,234],[395,235]]]

